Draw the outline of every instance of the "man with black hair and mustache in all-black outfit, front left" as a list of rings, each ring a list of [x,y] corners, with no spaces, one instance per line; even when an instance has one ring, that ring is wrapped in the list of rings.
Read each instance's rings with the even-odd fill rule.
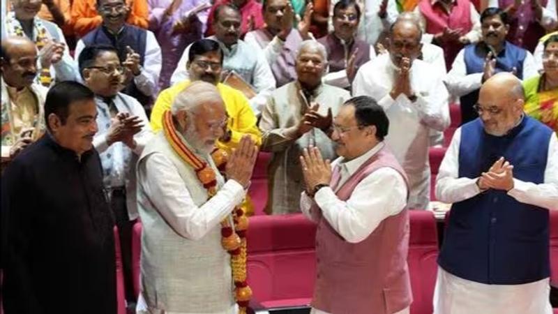
[[[3,173],[6,314],[116,314],[114,223],[92,144],[96,114],[82,84],[52,87],[48,133]]]

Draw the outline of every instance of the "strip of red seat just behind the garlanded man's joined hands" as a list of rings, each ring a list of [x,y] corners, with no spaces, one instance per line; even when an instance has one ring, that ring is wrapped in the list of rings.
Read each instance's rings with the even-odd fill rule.
[[[260,151],[254,172],[252,173],[252,182],[248,194],[254,203],[254,214],[264,215],[264,208],[267,202],[267,164],[271,159],[271,153]]]

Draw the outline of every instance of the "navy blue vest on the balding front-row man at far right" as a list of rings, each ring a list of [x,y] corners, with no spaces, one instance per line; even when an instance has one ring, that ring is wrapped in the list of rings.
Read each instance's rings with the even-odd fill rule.
[[[481,119],[462,126],[459,177],[477,178],[500,157],[513,177],[541,184],[552,130],[525,116],[507,135],[488,135]],[[521,203],[505,191],[487,190],[451,207],[438,263],[469,281],[531,283],[550,276],[548,209]]]

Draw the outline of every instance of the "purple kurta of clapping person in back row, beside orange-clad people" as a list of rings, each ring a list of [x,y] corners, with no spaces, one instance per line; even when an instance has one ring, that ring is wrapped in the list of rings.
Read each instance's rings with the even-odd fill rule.
[[[180,0],[179,0],[180,1]],[[201,39],[206,30],[209,9],[197,13],[199,22],[196,22],[195,31],[190,33],[172,34],[172,25],[179,21],[190,10],[209,0],[181,0],[171,16],[165,17],[165,10],[172,4],[172,0],[148,0],[149,5],[149,30],[155,34],[163,54],[163,66],[159,77],[159,90],[169,87],[170,77],[179,63],[182,53],[195,40]]]

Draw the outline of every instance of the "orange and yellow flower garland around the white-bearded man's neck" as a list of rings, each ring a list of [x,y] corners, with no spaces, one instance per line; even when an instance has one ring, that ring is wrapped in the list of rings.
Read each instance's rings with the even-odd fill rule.
[[[188,165],[194,168],[197,179],[207,189],[209,197],[217,193],[216,173],[204,160],[199,159],[181,141],[174,124],[170,110],[163,113],[163,131],[174,152]],[[214,149],[211,157],[216,165],[223,169],[227,163],[227,153],[222,149]],[[246,282],[246,230],[248,230],[248,218],[243,209],[235,207],[232,212],[234,227],[225,218],[221,221],[221,245],[231,255],[232,279],[234,281],[234,296],[236,304],[239,305],[239,313],[246,314],[248,303],[252,297],[252,290]]]

